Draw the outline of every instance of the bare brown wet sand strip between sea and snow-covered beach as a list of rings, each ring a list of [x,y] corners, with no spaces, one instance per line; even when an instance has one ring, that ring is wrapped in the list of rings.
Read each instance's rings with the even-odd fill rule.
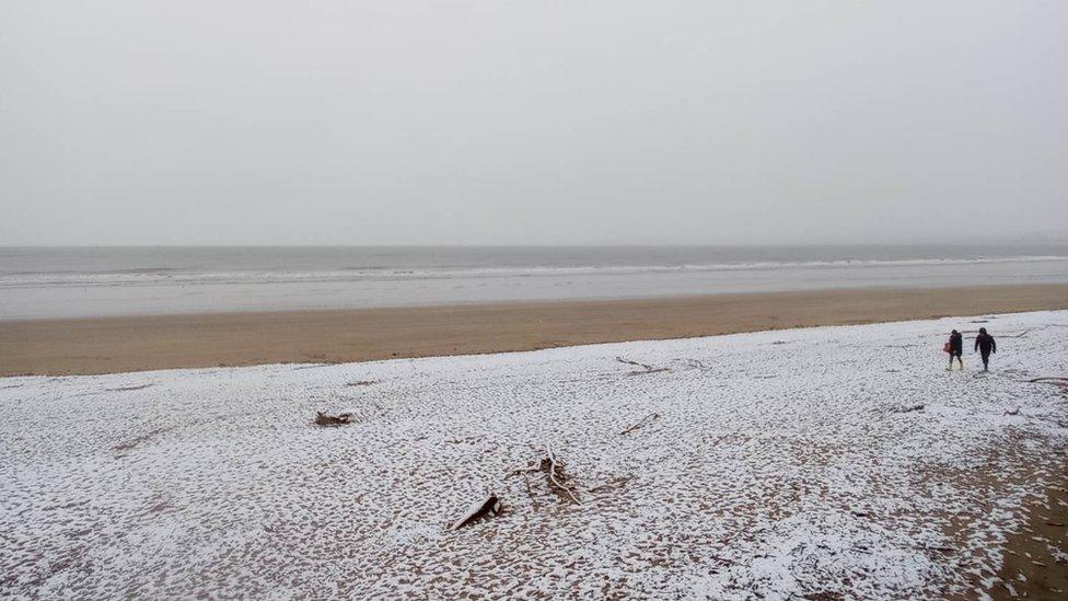
[[[1068,309],[1068,285],[0,321],[0,375],[467,355]]]

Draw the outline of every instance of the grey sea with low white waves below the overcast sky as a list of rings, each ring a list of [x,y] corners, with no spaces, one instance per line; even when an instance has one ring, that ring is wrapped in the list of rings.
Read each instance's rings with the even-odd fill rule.
[[[0,319],[1068,281],[1068,244],[0,247]]]

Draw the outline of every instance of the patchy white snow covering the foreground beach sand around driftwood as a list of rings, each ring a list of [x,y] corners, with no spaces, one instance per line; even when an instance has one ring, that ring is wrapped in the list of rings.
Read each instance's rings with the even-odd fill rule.
[[[994,372],[947,372],[977,322]],[[0,596],[974,594],[1064,485],[1068,400],[1026,380],[1065,374],[1068,312],[1036,312],[0,379]],[[546,444],[582,505],[513,475]]]

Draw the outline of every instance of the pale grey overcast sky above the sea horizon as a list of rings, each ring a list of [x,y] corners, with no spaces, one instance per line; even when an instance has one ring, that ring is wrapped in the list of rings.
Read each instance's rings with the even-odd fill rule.
[[[0,243],[1068,230],[1068,2],[0,2]]]

